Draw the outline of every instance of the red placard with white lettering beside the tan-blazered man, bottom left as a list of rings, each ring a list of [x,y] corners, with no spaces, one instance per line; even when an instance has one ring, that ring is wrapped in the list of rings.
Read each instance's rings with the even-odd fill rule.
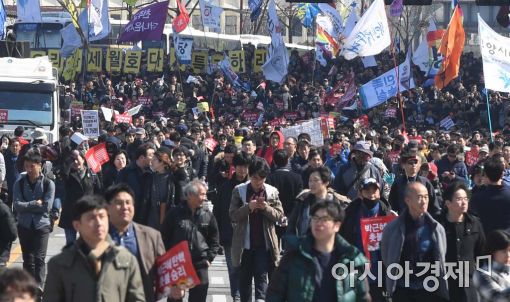
[[[172,286],[191,288],[200,284],[191,261],[188,242],[181,241],[156,259],[158,299],[168,296]]]

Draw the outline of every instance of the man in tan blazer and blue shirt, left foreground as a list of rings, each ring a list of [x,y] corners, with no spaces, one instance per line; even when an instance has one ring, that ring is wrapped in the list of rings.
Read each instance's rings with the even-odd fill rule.
[[[165,253],[159,231],[133,222],[133,190],[114,185],[104,193],[110,220],[109,234],[117,246],[125,247],[138,260],[146,301],[156,301],[156,259]]]

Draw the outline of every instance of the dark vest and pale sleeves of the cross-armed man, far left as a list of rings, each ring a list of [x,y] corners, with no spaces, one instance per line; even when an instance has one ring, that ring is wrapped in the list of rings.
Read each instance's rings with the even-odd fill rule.
[[[55,183],[47,179],[44,188],[44,176],[41,175],[35,183],[34,190],[29,184],[27,174],[22,174],[13,186],[13,205],[17,213],[18,225],[24,228],[41,229],[50,225],[49,211],[55,197]],[[22,181],[23,193],[19,182]],[[46,192],[44,190],[46,189]],[[42,204],[37,204],[41,199]]]

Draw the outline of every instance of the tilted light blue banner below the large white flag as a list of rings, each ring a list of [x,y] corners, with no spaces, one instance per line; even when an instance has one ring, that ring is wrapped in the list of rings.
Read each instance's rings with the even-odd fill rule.
[[[414,88],[414,80],[411,77],[409,57],[398,66],[399,91]],[[389,98],[397,95],[397,73],[395,68],[385,72],[372,81],[364,84],[359,89],[359,95],[363,103],[363,109],[369,109],[386,102]]]

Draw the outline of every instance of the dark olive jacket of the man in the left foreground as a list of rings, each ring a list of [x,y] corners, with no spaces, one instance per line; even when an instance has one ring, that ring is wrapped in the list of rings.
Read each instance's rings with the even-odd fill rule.
[[[145,301],[140,268],[135,256],[111,243],[102,256],[99,277],[92,272],[78,241],[51,258],[43,300],[51,302]]]

